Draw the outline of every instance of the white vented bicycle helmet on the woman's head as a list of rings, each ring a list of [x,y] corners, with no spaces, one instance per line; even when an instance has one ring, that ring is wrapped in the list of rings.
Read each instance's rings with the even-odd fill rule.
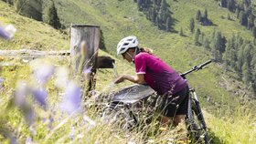
[[[129,48],[136,47],[138,44],[136,36],[124,37],[117,45],[117,55],[125,53]]]

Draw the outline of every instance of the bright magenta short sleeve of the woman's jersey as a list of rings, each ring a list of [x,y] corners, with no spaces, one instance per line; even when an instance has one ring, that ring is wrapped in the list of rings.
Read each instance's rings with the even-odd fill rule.
[[[144,55],[138,55],[135,57],[136,74],[145,74],[146,70],[146,57]]]

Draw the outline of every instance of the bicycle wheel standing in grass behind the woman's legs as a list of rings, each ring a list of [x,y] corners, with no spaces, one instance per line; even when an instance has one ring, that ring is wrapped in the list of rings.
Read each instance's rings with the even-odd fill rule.
[[[199,103],[189,98],[188,102],[188,134],[192,143],[209,144],[208,131]]]

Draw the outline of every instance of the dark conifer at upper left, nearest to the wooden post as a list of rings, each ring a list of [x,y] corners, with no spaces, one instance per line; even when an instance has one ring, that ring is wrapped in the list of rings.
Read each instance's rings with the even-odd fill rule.
[[[48,7],[46,8],[44,22],[50,26],[53,26],[56,29],[59,29],[61,27],[61,24],[59,22],[59,15],[57,13],[54,2],[52,2],[51,5],[48,5]]]

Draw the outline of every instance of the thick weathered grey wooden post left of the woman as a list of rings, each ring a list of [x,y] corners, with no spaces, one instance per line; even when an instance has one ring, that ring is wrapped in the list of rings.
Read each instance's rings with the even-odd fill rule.
[[[72,25],[70,54],[75,71],[86,78],[86,96],[95,88],[96,62],[100,44],[100,26]]]

